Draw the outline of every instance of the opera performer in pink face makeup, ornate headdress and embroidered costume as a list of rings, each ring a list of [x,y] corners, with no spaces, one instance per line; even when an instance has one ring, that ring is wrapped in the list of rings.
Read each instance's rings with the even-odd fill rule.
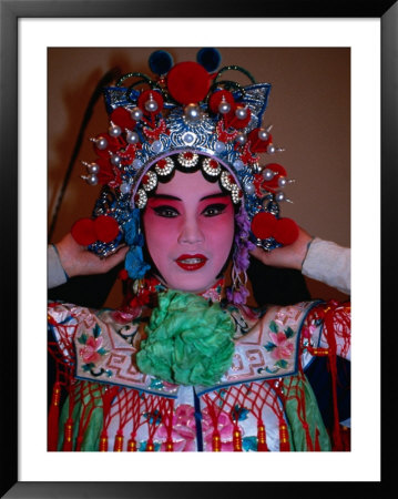
[[[338,415],[328,435],[305,368],[328,356],[336,381],[349,309],[245,305],[249,252],[306,249],[310,237],[279,216],[284,169],[259,165],[277,152],[258,125],[269,85],[217,84],[223,70],[204,59],[169,67],[156,52],[150,90],[122,88],[123,78],[108,89],[110,130],[88,164],[89,183],[106,187],[72,235],[102,256],[127,244],[126,301],[99,312],[50,304],[51,450],[343,448]]]

